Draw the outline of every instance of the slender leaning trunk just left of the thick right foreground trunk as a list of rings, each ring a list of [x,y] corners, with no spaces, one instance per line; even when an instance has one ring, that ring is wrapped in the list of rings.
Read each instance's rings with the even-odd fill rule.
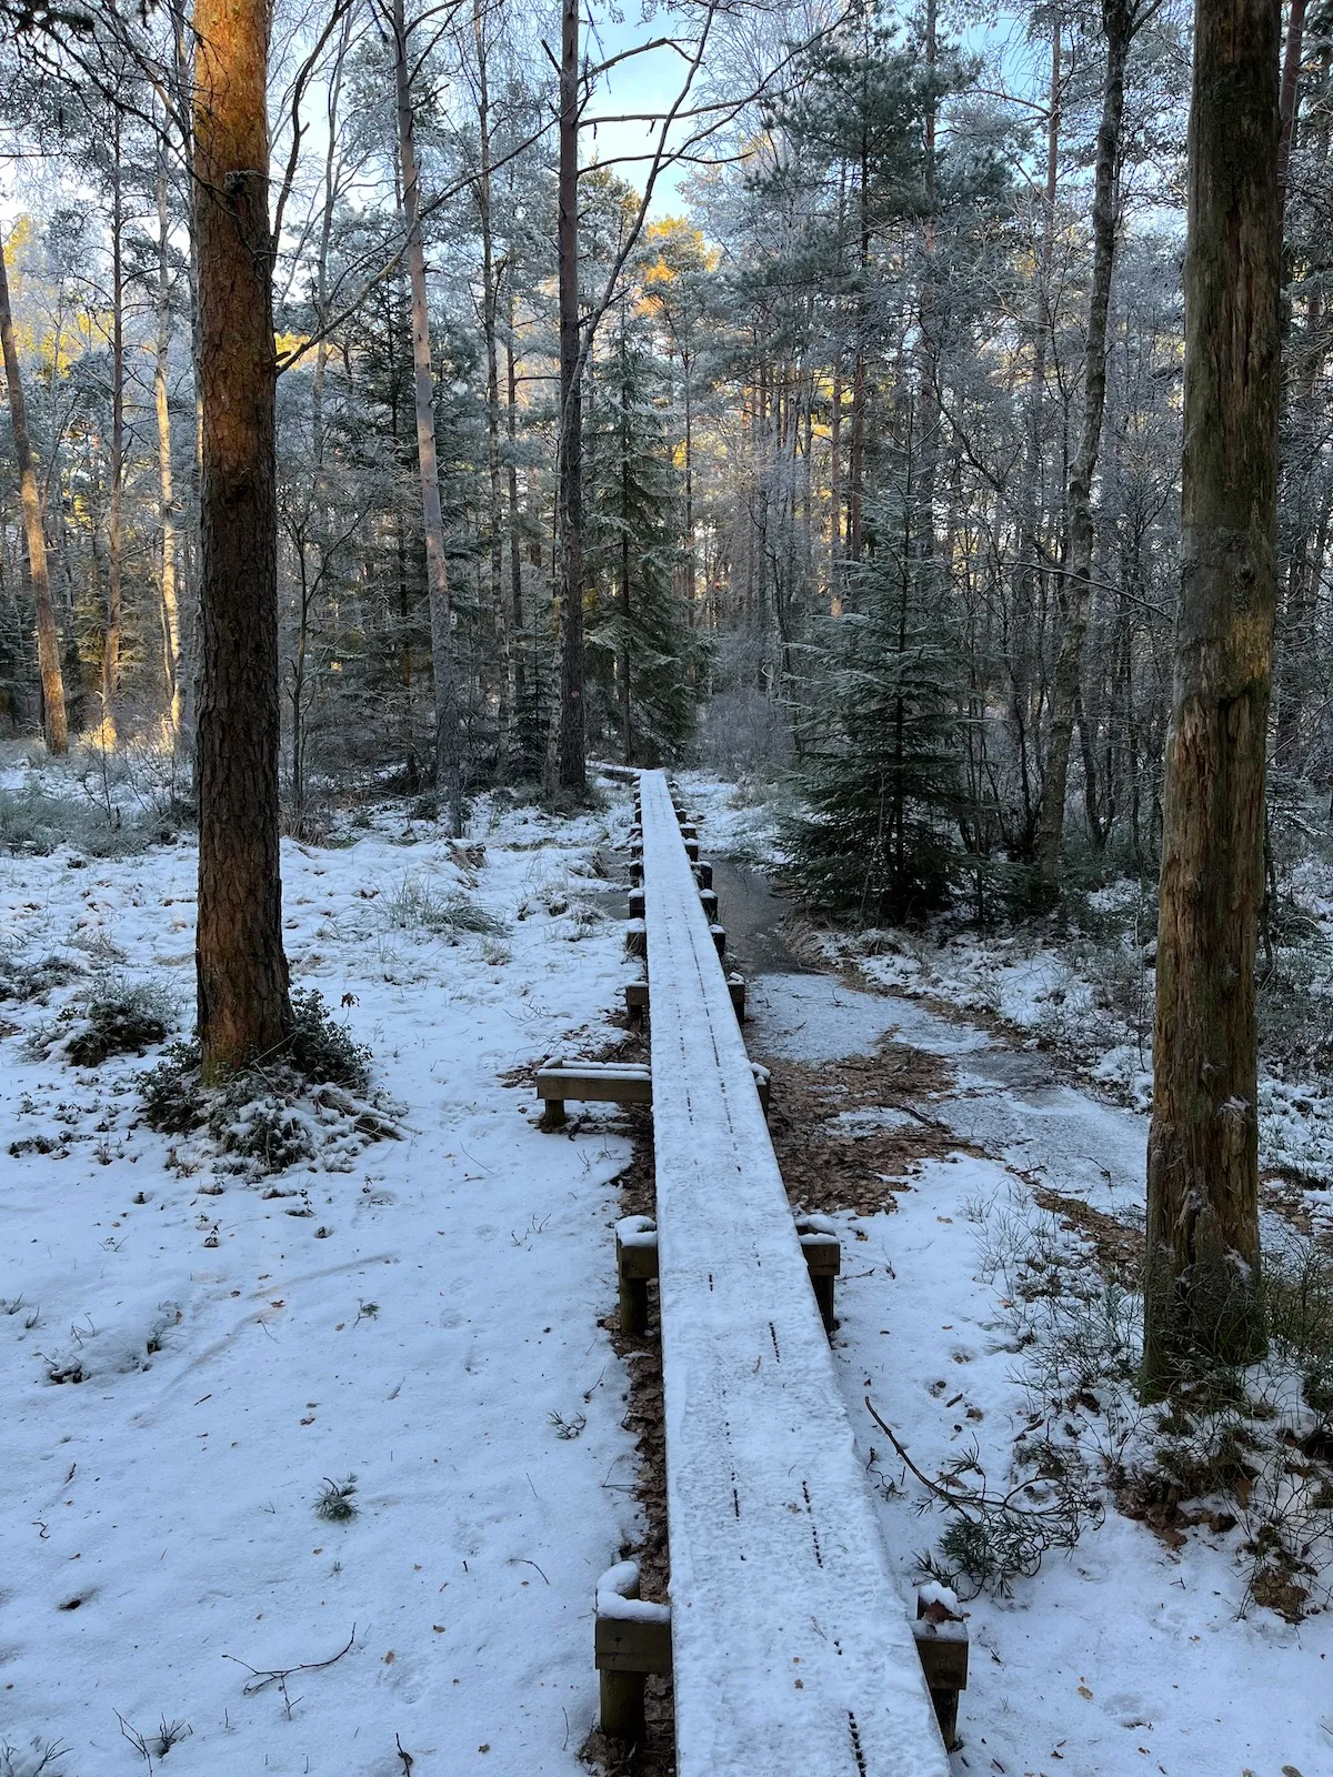
[[[1065,622],[1050,682],[1050,725],[1047,732],[1042,807],[1036,823],[1038,890],[1045,899],[1059,896],[1061,851],[1065,844],[1065,798],[1070,780],[1070,745],[1079,707],[1082,645],[1093,595],[1093,476],[1102,448],[1106,412],[1106,334],[1111,309],[1111,277],[1116,259],[1116,199],[1120,185],[1120,147],[1125,119],[1125,64],[1129,46],[1143,21],[1136,0],[1102,0],[1106,32],[1106,84],[1102,121],[1097,130],[1097,176],[1093,194],[1093,284],[1088,297],[1088,348],[1082,377],[1082,430],[1070,469],[1070,562],[1065,583]]]

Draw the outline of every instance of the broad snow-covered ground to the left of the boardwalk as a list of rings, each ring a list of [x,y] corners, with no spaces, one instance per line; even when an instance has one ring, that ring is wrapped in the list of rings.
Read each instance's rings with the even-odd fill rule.
[[[142,1123],[153,1056],[82,1072],[30,1047],[108,981],[164,988],[185,1032],[192,846],[0,857],[18,1777],[52,1743],[48,1777],[142,1772],[121,1720],[149,1754],[180,1724],[181,1777],[402,1777],[400,1747],[418,1777],[579,1770],[594,1583],[636,1525],[626,1374],[599,1326],[627,1144],[610,1112],[540,1134],[501,1075],[611,1034],[622,933],[590,862],[608,819],[624,803],[576,823],[482,803],[478,867],[389,812],[341,849],[284,841],[293,983],[345,1006],[403,1139],[332,1127],[256,1182]],[[428,929],[455,896],[492,929]],[[14,999],[46,958],[27,988],[59,984]],[[355,1516],[322,1519],[348,1477]]]

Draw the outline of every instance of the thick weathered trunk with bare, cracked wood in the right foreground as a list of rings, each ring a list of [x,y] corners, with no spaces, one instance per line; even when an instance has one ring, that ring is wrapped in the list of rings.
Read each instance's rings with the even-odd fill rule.
[[[1276,599],[1276,0],[1200,0],[1143,1390],[1264,1347],[1255,942]]]

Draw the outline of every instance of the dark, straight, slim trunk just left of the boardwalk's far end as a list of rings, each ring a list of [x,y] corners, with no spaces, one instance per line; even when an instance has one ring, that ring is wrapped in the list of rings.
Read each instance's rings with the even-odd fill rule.
[[[579,325],[579,0],[560,12],[560,732],[556,782],[587,789],[583,709],[583,393]]]

